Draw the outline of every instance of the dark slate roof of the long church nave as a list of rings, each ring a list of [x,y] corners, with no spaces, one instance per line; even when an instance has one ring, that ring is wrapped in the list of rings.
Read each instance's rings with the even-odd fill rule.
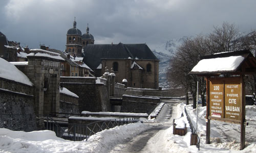
[[[101,59],[157,60],[146,44],[88,44],[84,48],[83,61],[96,69]]]

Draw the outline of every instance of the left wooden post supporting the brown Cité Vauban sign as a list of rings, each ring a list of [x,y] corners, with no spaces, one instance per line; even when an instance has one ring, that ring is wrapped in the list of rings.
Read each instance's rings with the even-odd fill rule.
[[[206,81],[206,144],[210,144],[210,120],[208,119],[210,115],[210,100],[209,100],[209,80],[205,78]]]

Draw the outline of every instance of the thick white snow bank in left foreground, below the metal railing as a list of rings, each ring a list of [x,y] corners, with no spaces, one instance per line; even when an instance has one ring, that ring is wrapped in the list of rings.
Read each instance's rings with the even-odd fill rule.
[[[132,123],[116,126],[91,136],[88,141],[69,141],[52,131],[15,132],[0,129],[0,152],[107,152],[118,140],[138,135],[151,126]]]

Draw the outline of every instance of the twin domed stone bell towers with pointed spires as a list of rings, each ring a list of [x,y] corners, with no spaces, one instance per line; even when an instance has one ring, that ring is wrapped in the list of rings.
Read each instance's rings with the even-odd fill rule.
[[[67,32],[66,53],[71,56],[81,57],[82,47],[87,44],[94,44],[94,37],[89,33],[88,25],[86,33],[82,35],[81,31],[76,28],[76,21],[74,21],[73,28]]]

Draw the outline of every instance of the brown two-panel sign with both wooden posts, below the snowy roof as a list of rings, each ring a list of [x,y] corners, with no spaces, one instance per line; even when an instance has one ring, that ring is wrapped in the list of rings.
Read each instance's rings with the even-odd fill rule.
[[[206,143],[210,143],[210,120],[241,124],[240,149],[245,147],[245,86],[236,78],[206,78]]]

